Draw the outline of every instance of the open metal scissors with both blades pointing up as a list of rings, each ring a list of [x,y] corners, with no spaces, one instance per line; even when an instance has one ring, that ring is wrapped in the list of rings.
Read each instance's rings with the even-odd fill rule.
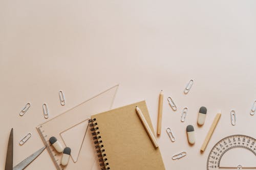
[[[24,159],[22,162],[17,164],[13,167],[13,128],[11,130],[9,141],[8,141],[8,148],[6,154],[6,163],[5,163],[5,170],[23,170],[27,167],[33,160],[35,160],[41,153],[44,151],[46,147],[43,147]]]

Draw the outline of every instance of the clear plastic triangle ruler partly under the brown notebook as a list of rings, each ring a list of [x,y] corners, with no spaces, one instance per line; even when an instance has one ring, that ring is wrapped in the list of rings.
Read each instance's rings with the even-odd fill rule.
[[[97,154],[88,128],[88,120],[92,114],[97,114],[112,108],[118,85],[101,92],[93,98],[54,117],[48,122],[37,126],[42,141],[58,170],[94,170],[99,169],[96,162]],[[56,137],[62,147],[71,148],[71,159],[67,166],[61,166],[62,154],[57,153],[49,143],[50,137]]]

